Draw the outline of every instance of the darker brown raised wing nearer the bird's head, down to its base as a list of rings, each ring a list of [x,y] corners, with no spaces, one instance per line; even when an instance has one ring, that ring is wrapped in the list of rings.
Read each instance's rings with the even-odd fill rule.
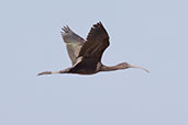
[[[97,64],[101,61],[103,52],[109,45],[109,35],[102,23],[99,22],[95,24],[79,52],[79,61],[76,64],[75,69],[87,68],[88,70],[95,70]]]

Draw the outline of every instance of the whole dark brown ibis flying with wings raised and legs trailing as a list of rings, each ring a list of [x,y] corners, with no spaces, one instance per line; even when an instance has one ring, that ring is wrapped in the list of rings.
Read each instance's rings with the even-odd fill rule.
[[[62,29],[62,36],[73,66],[59,71],[40,72],[38,76],[54,73],[93,75],[100,71],[128,68],[139,68],[148,72],[145,68],[128,63],[121,63],[115,66],[106,66],[101,63],[102,54],[110,45],[109,35],[101,22],[92,25],[86,39],[74,33],[68,26]]]

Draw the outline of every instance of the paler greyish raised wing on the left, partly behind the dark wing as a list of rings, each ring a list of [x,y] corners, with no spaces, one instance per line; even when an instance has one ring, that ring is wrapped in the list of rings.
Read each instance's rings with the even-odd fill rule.
[[[62,36],[64,42],[66,43],[69,58],[71,60],[71,64],[75,65],[80,48],[85,43],[85,39],[76,33],[74,33],[68,26],[64,26],[62,30]]]

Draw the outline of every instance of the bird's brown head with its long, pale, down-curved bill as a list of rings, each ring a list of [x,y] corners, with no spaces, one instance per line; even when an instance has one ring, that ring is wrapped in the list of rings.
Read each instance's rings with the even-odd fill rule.
[[[130,64],[128,64],[128,63],[121,63],[121,64],[117,65],[117,67],[119,67],[120,69],[136,68],[136,69],[145,70],[146,72],[150,72],[147,69],[145,69],[145,68],[143,68],[143,67],[130,65]]]

